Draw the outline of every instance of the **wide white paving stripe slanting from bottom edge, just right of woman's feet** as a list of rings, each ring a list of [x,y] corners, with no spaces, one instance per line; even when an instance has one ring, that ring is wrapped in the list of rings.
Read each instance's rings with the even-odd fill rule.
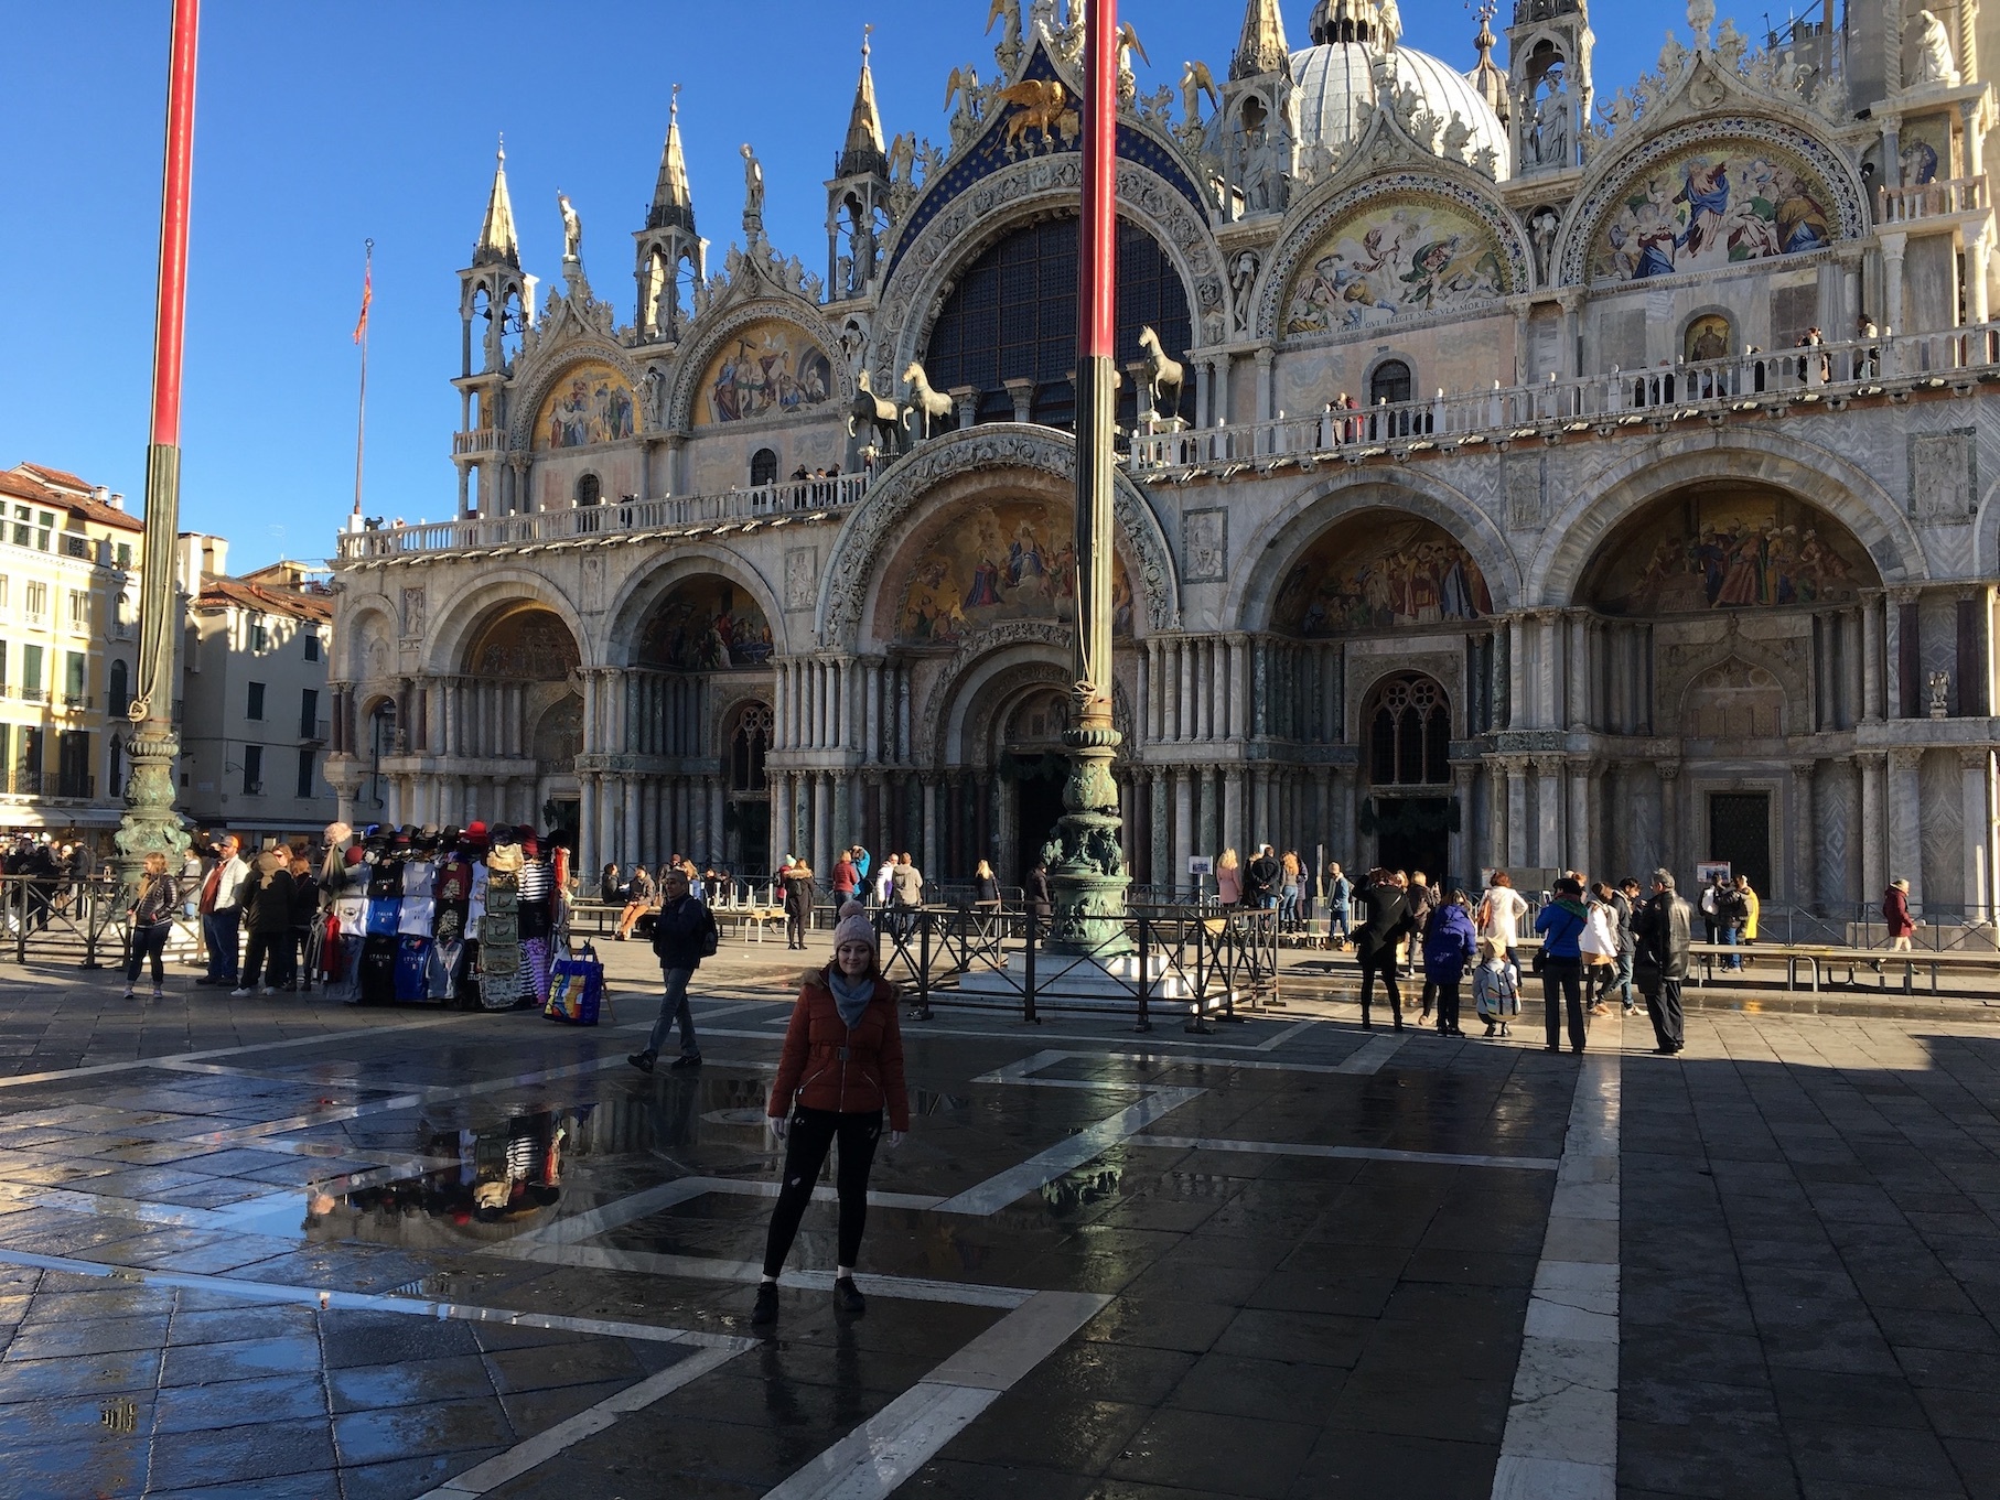
[[[1106,1302],[1094,1292],[1036,1292],[764,1500],[882,1500]]]

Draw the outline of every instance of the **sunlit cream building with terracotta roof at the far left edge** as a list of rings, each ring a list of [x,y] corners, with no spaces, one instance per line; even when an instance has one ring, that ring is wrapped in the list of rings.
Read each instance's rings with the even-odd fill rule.
[[[0,470],[0,830],[102,842],[122,812],[144,532],[124,496]]]

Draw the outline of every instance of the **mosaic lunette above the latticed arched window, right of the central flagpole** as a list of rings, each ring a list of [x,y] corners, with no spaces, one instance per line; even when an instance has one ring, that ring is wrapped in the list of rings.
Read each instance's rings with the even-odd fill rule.
[[[1448,530],[1398,510],[1358,510],[1292,564],[1272,602],[1272,628],[1358,636],[1464,626],[1494,612],[1472,554]]]

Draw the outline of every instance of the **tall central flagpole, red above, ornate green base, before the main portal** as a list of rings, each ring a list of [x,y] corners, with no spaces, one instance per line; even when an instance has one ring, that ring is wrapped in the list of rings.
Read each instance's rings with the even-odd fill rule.
[[[1048,946],[1120,958],[1126,872],[1112,758],[1112,484],[1118,414],[1118,2],[1094,0],[1084,16],[1084,194],[1076,288],[1076,688],[1062,736],[1070,778],[1050,862],[1054,916]]]

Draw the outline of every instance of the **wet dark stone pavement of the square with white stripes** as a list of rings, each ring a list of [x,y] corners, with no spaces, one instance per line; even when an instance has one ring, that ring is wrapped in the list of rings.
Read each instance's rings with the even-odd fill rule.
[[[650,1078],[638,964],[596,1030],[0,976],[0,1500],[2000,1494],[1996,1026],[940,1004],[866,1314],[824,1182],[760,1336],[774,976]]]

